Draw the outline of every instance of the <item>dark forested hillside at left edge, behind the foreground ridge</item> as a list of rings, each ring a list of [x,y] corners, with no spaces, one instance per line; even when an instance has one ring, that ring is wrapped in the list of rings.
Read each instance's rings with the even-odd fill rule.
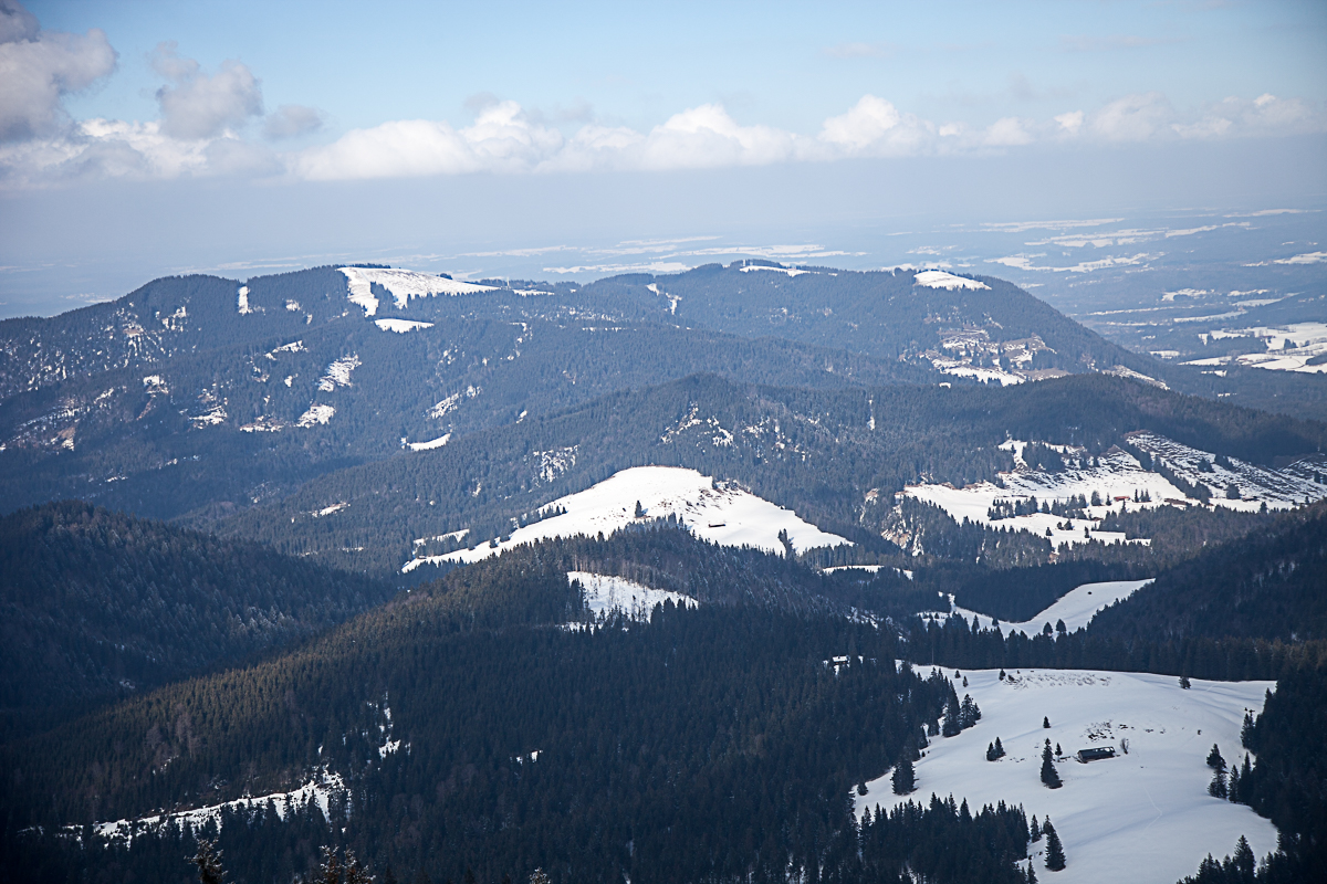
[[[0,518],[4,736],[316,635],[376,580],[81,502]]]

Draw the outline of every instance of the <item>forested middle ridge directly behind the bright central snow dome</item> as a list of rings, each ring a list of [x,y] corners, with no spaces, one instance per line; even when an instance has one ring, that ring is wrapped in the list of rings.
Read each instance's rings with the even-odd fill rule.
[[[824,530],[886,550],[880,529],[905,484],[991,480],[1014,467],[998,448],[1010,435],[1103,452],[1140,428],[1255,463],[1327,441],[1327,428],[1315,423],[1103,375],[1007,388],[825,391],[699,375],[340,470],[218,529],[341,567],[386,570],[406,561],[414,538],[464,527],[472,529],[471,542],[503,535],[511,520],[563,494],[628,467],[661,464],[735,480]],[[549,476],[541,452],[568,452],[575,463]],[[341,502],[349,506],[334,518],[309,516]],[[989,530],[974,530],[990,538]],[[1042,546],[1040,555],[1052,551]],[[358,547],[365,549],[344,553]]]

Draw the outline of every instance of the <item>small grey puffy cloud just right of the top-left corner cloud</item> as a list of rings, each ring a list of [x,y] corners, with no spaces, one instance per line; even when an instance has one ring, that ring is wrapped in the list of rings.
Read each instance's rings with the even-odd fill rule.
[[[170,41],[157,46],[153,68],[175,83],[157,90],[162,130],[173,138],[216,138],[263,114],[257,78],[238,61],[224,61],[219,72],[207,76]]]

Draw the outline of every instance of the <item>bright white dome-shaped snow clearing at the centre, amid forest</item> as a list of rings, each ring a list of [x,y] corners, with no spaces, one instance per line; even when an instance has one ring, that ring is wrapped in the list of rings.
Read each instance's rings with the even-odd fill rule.
[[[583,492],[551,501],[544,509],[560,508],[565,512],[518,529],[496,546],[480,543],[472,550],[417,558],[406,562],[401,570],[411,571],[423,563],[478,562],[512,546],[553,537],[608,535],[642,521],[636,518],[637,501],[645,510],[642,520],[675,516],[697,537],[722,546],[754,546],[782,554],[779,531],[788,533],[795,550],[851,545],[837,534],[828,534],[802,521],[792,510],[750,492],[715,482],[694,469],[633,467]]]

